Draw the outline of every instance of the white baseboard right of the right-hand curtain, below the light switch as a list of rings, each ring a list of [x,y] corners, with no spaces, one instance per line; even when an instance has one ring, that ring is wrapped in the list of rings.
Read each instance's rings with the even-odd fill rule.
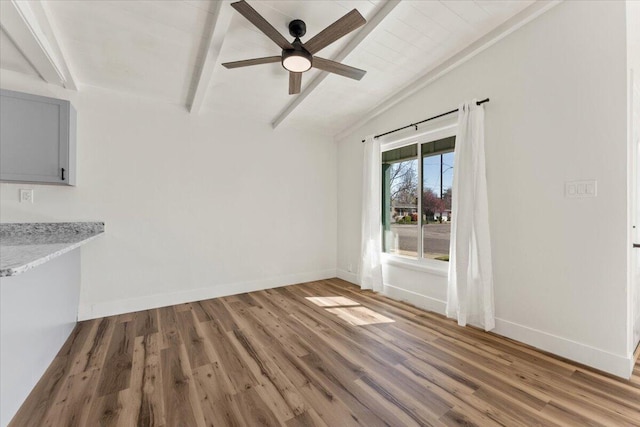
[[[496,318],[496,327],[491,332],[625,379],[631,378],[631,373],[633,372],[633,355],[624,357],[609,353],[586,344],[498,318]]]

